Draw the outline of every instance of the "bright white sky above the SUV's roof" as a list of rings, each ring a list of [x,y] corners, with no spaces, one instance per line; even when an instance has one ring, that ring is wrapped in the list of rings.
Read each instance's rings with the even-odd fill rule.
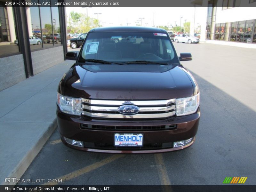
[[[100,25],[104,27],[108,26],[126,26],[127,23],[129,26],[135,26],[136,22],[142,26],[169,26],[175,25],[180,26],[180,17],[181,25],[183,26],[185,20],[191,21],[193,13],[195,11],[194,7],[88,7],[88,16],[97,19],[97,14],[99,14]],[[66,7],[67,18],[69,19],[69,13],[71,11],[86,13],[86,8],[82,7]],[[196,7],[196,16],[195,16],[195,27],[197,23],[200,23],[202,17],[201,7]],[[206,16],[205,16],[206,17]],[[200,24],[199,24],[200,25]]]

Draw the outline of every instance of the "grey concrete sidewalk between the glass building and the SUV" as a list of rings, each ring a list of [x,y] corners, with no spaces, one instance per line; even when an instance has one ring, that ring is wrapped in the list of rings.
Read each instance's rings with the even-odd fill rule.
[[[64,61],[0,92],[0,184],[20,178],[57,127],[57,87],[74,61]]]

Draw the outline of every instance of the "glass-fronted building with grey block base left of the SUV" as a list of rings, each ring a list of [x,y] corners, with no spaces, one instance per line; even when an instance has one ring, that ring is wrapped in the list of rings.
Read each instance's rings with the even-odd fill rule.
[[[60,19],[65,18],[65,7],[5,2],[0,0],[0,91],[64,61],[67,52],[66,22]],[[49,36],[52,42],[47,43]]]

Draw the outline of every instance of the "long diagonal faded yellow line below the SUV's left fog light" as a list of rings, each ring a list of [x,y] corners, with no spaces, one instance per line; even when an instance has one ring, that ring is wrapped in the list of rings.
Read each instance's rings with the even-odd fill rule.
[[[103,159],[103,160],[97,162],[97,163],[88,165],[88,166],[86,166],[86,167],[84,167],[82,169],[79,169],[79,170],[76,170],[74,172],[68,173],[67,175],[59,177],[58,179],[62,180],[62,182],[67,181],[67,180],[71,180],[71,179],[76,178],[76,177],[78,177],[80,175],[83,175],[84,173],[90,172],[92,170],[95,170],[95,169],[103,166],[103,165],[111,163],[111,162],[115,161],[116,159],[119,159],[119,158],[121,158],[123,156],[124,155],[113,155],[113,156],[110,156],[110,157],[108,157],[106,159]],[[43,185],[58,185],[58,183],[57,182],[56,183],[44,183]]]

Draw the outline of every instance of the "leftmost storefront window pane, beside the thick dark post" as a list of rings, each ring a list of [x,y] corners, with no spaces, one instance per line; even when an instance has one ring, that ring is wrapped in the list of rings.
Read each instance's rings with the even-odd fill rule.
[[[0,1],[0,57],[19,52],[13,7]]]

